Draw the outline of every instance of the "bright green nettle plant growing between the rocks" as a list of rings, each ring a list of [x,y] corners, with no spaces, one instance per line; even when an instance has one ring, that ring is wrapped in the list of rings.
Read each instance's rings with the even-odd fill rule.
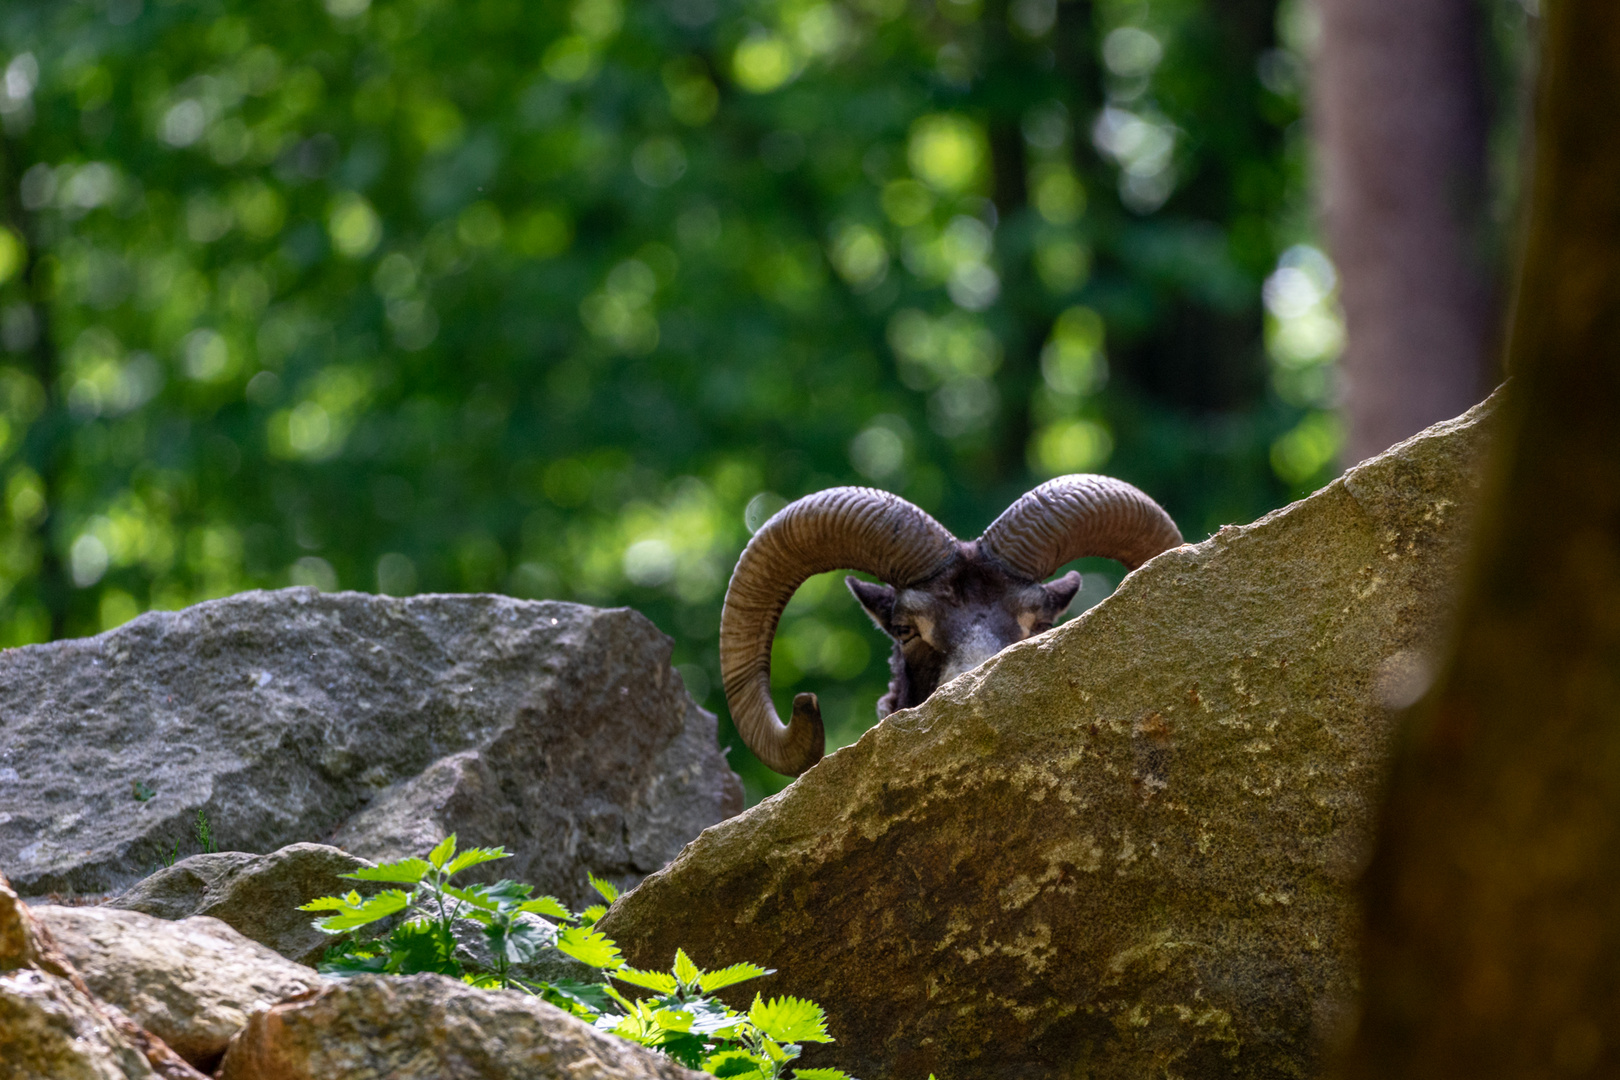
[[[350,934],[387,918],[403,916],[387,934],[347,938],[326,950],[322,975],[450,975],[488,989],[522,989],[620,1038],[661,1051],[690,1069],[737,1080],[782,1080],[804,1043],[831,1043],[821,1006],[802,997],[753,996],[747,1012],[737,1012],[714,993],[773,972],[755,963],[732,963],[705,972],[676,950],[669,972],[640,972],[619,955],[612,939],[595,929],[608,904],[619,897],[612,882],[590,876],[606,900],[570,912],[561,900],[533,895],[533,886],[517,881],[450,884],[465,870],[509,858],[505,848],[455,850],[455,836],[426,858],[405,858],[358,870],[345,878],[403,889],[384,889],[369,897],[350,892],[305,904],[303,912],[329,912],[314,921],[329,934]],[[488,959],[458,942],[455,931],[476,926]],[[569,957],[593,968],[595,981],[530,978],[520,975],[535,960]],[[635,988],[620,991],[616,983]],[[637,991],[643,993],[633,997]],[[795,1080],[852,1080],[839,1069],[792,1069]],[[932,1078],[930,1078],[932,1080]]]

